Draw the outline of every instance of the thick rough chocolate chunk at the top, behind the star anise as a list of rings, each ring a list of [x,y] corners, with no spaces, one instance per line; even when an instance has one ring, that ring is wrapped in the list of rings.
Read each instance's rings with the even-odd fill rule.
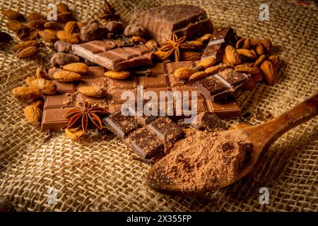
[[[208,19],[206,11],[185,4],[159,6],[143,11],[138,23],[160,44],[172,34],[191,39],[213,31],[212,22]]]

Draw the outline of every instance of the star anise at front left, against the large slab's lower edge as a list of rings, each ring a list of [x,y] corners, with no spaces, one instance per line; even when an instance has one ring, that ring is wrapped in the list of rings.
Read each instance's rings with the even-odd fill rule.
[[[83,102],[83,107],[69,110],[64,117],[69,118],[67,128],[72,128],[81,122],[83,132],[86,133],[89,122],[97,129],[102,129],[102,121],[100,121],[100,117],[97,114],[107,114],[107,111],[102,107],[92,107],[90,101],[85,101]]]

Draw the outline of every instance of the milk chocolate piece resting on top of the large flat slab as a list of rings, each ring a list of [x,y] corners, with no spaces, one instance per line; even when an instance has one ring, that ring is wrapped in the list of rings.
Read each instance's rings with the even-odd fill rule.
[[[122,47],[117,47],[122,45]],[[151,66],[153,52],[143,46],[125,47],[119,40],[95,40],[72,45],[73,54],[106,69],[121,71],[137,66]]]

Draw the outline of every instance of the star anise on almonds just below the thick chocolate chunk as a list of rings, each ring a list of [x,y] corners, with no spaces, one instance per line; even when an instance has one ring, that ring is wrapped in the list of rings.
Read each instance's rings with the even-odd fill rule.
[[[165,40],[165,45],[160,48],[160,51],[167,52],[163,59],[169,58],[174,53],[175,61],[178,62],[181,49],[193,49],[191,45],[186,43],[186,38],[185,36],[178,38],[177,35],[172,34],[170,40]]]

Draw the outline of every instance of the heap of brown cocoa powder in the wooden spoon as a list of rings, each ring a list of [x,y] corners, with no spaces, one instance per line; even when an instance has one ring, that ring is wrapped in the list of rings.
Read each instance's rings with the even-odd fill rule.
[[[167,179],[183,191],[205,192],[237,177],[251,151],[252,143],[242,131],[197,131],[175,143],[160,165]]]

